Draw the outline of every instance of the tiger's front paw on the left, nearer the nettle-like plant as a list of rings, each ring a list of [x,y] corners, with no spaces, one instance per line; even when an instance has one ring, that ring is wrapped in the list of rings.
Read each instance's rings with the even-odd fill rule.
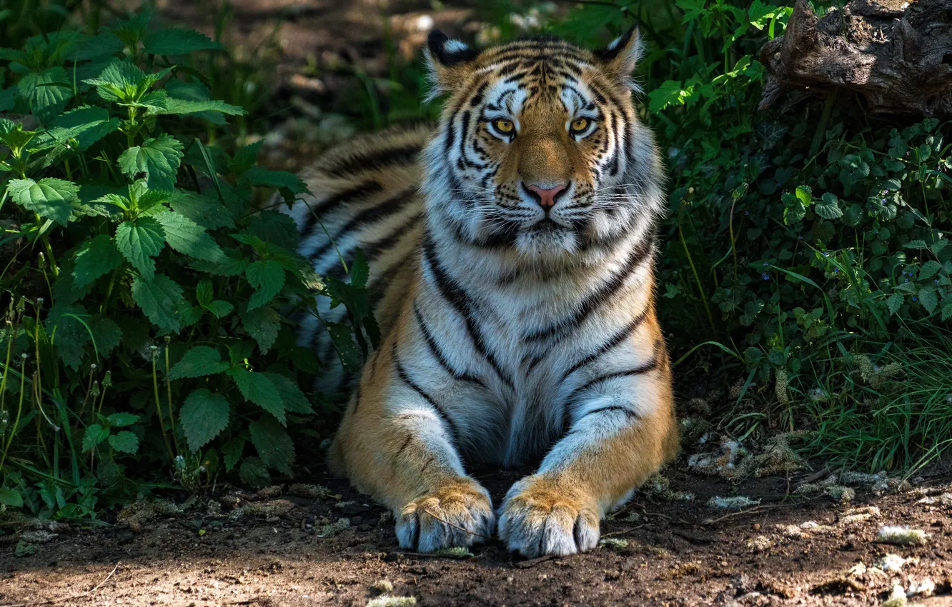
[[[419,552],[470,546],[491,536],[495,521],[486,489],[461,478],[407,503],[397,516],[397,539]]]

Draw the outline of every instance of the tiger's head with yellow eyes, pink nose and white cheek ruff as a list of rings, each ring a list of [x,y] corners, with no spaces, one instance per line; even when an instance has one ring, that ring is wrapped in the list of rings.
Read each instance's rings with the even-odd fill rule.
[[[534,259],[651,229],[663,195],[632,100],[640,49],[635,29],[594,51],[554,38],[477,51],[430,33],[432,94],[447,99],[426,148],[429,215],[467,245]]]

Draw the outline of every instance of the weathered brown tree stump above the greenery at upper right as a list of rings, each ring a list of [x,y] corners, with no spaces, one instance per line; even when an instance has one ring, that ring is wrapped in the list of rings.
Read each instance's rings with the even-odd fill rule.
[[[846,89],[874,112],[952,114],[952,0],[851,0],[823,17],[797,0],[761,62],[761,108],[788,90]]]

